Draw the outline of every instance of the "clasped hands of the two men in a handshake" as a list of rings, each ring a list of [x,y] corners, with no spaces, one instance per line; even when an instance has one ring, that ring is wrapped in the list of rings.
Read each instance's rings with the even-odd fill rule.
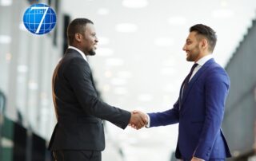
[[[138,110],[134,110],[133,112],[130,112],[130,123],[129,125],[132,128],[140,129],[145,127],[148,124],[148,118],[145,113],[140,112]]]

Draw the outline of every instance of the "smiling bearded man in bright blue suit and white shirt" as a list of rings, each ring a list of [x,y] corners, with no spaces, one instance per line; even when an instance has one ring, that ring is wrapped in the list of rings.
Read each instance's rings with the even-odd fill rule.
[[[183,81],[174,108],[148,114],[148,127],[179,123],[175,151],[182,160],[225,160],[230,150],[222,134],[222,120],[230,79],[212,53],[217,37],[209,26],[190,27],[183,50],[193,68]]]

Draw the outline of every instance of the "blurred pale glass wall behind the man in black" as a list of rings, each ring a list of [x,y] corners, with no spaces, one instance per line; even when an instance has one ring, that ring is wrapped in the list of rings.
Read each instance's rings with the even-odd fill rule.
[[[0,90],[6,96],[4,115],[49,139],[55,124],[51,75],[62,56],[62,17],[46,35],[29,33],[22,18],[32,2],[0,0]],[[58,8],[55,0],[37,2]]]

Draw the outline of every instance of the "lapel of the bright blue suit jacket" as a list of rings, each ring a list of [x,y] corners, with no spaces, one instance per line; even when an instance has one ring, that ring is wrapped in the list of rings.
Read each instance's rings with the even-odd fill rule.
[[[194,77],[192,77],[192,79],[190,80],[190,82],[187,84],[186,90],[183,91],[183,95],[182,95],[182,99],[181,99],[181,106],[182,104],[185,102],[186,97],[189,95],[191,88],[193,87],[193,85],[196,83],[196,81],[198,80],[198,78],[202,75],[202,73],[204,73],[206,71],[206,69],[212,65],[214,63],[214,59],[210,59],[209,61],[206,61],[206,63],[204,65],[202,65],[201,69],[198,70],[197,73],[195,73]],[[183,82],[184,84],[184,82]],[[183,87],[183,85],[182,85]],[[181,88],[182,91],[182,88]],[[180,94],[181,96],[181,94]]]

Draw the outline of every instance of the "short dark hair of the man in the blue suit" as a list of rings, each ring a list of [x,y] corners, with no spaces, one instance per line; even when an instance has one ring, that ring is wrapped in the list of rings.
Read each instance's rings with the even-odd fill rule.
[[[217,36],[214,29],[211,29],[209,26],[205,26],[202,24],[197,24],[190,27],[190,32],[195,31],[196,33],[206,37],[207,41],[209,42],[209,50],[211,52],[214,51],[214,47],[216,45]]]

